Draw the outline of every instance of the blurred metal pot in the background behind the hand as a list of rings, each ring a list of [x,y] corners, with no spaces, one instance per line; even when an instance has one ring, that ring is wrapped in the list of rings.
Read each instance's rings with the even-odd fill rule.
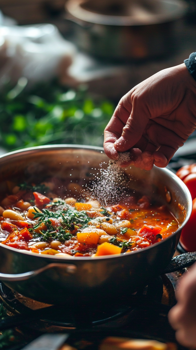
[[[180,0],[69,0],[66,19],[73,41],[99,58],[142,60],[169,54],[174,24],[183,17]]]

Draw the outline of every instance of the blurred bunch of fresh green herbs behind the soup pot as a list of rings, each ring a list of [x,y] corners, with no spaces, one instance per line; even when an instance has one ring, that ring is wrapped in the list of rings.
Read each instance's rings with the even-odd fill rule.
[[[0,146],[7,150],[47,144],[103,146],[113,104],[56,81],[25,89],[26,78],[0,92]]]

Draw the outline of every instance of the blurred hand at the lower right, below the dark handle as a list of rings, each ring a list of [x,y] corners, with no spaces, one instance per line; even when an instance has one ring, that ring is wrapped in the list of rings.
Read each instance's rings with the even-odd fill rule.
[[[169,311],[169,322],[176,330],[177,341],[196,349],[196,264],[181,278],[177,304]]]

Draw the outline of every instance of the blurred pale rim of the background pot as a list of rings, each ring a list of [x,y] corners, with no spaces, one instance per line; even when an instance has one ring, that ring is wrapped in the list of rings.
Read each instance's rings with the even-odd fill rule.
[[[176,6],[173,12],[168,11],[166,14],[151,15],[148,19],[134,18],[133,16],[114,16],[104,15],[96,12],[91,12],[82,8],[80,5],[86,0],[68,0],[65,4],[65,9],[76,19],[86,23],[95,23],[108,26],[144,26],[171,22],[181,18],[187,7],[183,0],[159,0],[162,3],[170,3]]]

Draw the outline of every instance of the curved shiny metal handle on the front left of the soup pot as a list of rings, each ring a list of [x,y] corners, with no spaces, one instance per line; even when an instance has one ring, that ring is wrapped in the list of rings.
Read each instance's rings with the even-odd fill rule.
[[[1,281],[26,281],[29,280],[32,277],[35,277],[39,275],[40,273],[53,268],[53,267],[59,267],[59,268],[64,268],[65,271],[69,274],[73,274],[77,270],[76,265],[70,265],[70,264],[58,264],[57,262],[48,264],[44,267],[38,268],[37,270],[34,271],[29,271],[25,273],[17,273],[17,274],[8,274],[8,273],[0,273],[0,280]]]

